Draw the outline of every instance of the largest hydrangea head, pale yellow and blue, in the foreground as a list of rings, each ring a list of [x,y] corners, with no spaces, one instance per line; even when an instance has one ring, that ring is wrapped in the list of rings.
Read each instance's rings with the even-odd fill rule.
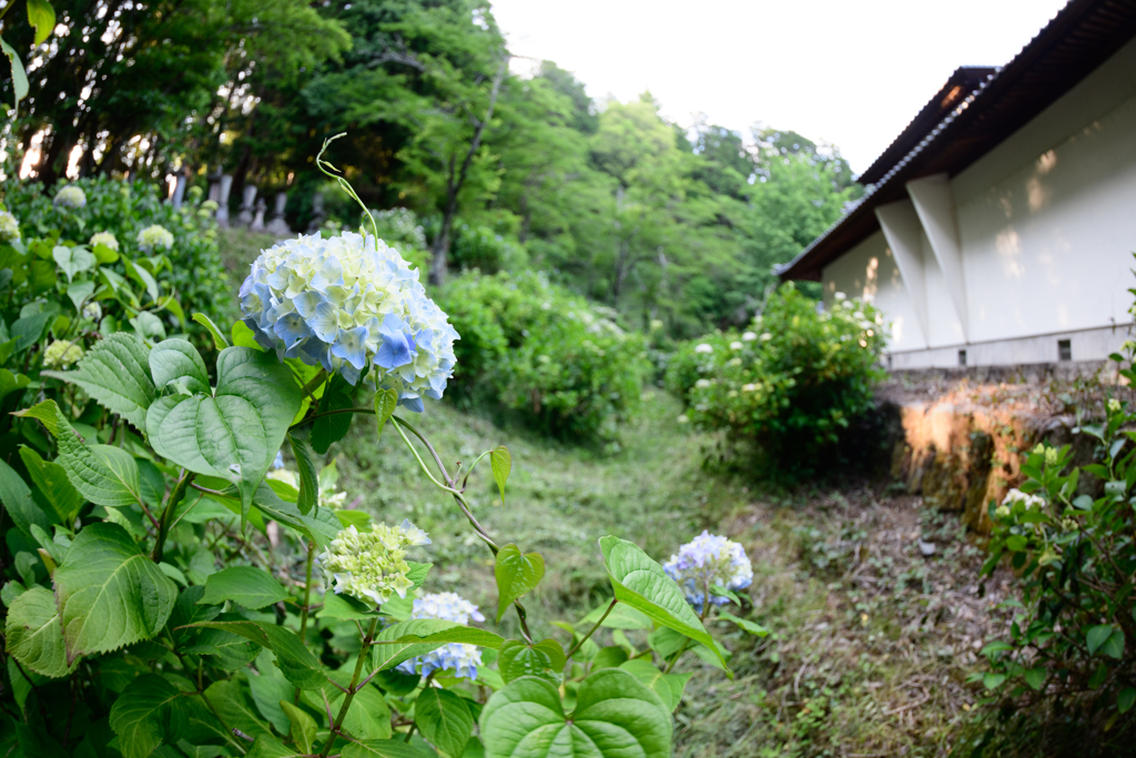
[[[241,313],[265,349],[375,384],[423,410],[453,373],[458,333],[398,251],[373,236],[300,235],[260,253],[241,285]],[[368,368],[369,366],[369,368]]]

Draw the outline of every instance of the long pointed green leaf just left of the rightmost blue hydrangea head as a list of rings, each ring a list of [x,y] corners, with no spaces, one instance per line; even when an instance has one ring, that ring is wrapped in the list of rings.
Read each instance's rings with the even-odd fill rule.
[[[600,550],[617,600],[642,611],[655,624],[701,642],[715,651],[722,667],[726,666],[726,659],[718,651],[713,639],[686,602],[683,591],[662,570],[662,566],[651,560],[634,542],[619,538],[602,538]],[[728,668],[726,673],[729,675]]]

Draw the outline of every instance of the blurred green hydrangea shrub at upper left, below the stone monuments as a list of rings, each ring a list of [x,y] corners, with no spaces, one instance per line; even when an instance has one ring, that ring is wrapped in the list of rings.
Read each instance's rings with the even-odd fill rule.
[[[191,188],[186,202],[174,209],[162,201],[160,188],[145,182],[120,182],[106,177],[81,178],[70,184],[86,195],[82,208],[57,206],[53,198],[66,183],[47,190],[37,182],[9,180],[0,185],[8,209],[19,220],[25,238],[51,238],[60,244],[89,244],[99,232],[109,232],[118,241],[125,258],[144,261],[164,256],[168,266],[151,266],[151,273],[167,290],[176,293],[186,314],[202,313],[216,322],[235,314],[235,298],[217,247],[217,225],[210,203],[201,202],[201,192]],[[174,235],[168,250],[143,251],[139,233],[152,225]],[[145,263],[141,265],[145,266]],[[124,272],[125,273],[125,272]],[[177,331],[203,336],[197,324],[168,323]]]

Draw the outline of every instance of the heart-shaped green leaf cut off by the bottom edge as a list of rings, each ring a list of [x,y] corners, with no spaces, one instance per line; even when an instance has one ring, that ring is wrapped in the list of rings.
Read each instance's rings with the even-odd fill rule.
[[[550,682],[521,677],[482,710],[485,758],[669,758],[670,714],[632,674],[604,668],[580,683],[569,720]]]

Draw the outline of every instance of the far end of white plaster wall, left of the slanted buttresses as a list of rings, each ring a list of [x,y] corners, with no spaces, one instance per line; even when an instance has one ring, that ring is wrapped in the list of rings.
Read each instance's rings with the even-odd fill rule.
[[[876,232],[825,268],[825,307],[833,307],[833,294],[868,299],[884,311],[891,324],[889,350],[920,350],[927,347],[911,295],[883,232]]]

